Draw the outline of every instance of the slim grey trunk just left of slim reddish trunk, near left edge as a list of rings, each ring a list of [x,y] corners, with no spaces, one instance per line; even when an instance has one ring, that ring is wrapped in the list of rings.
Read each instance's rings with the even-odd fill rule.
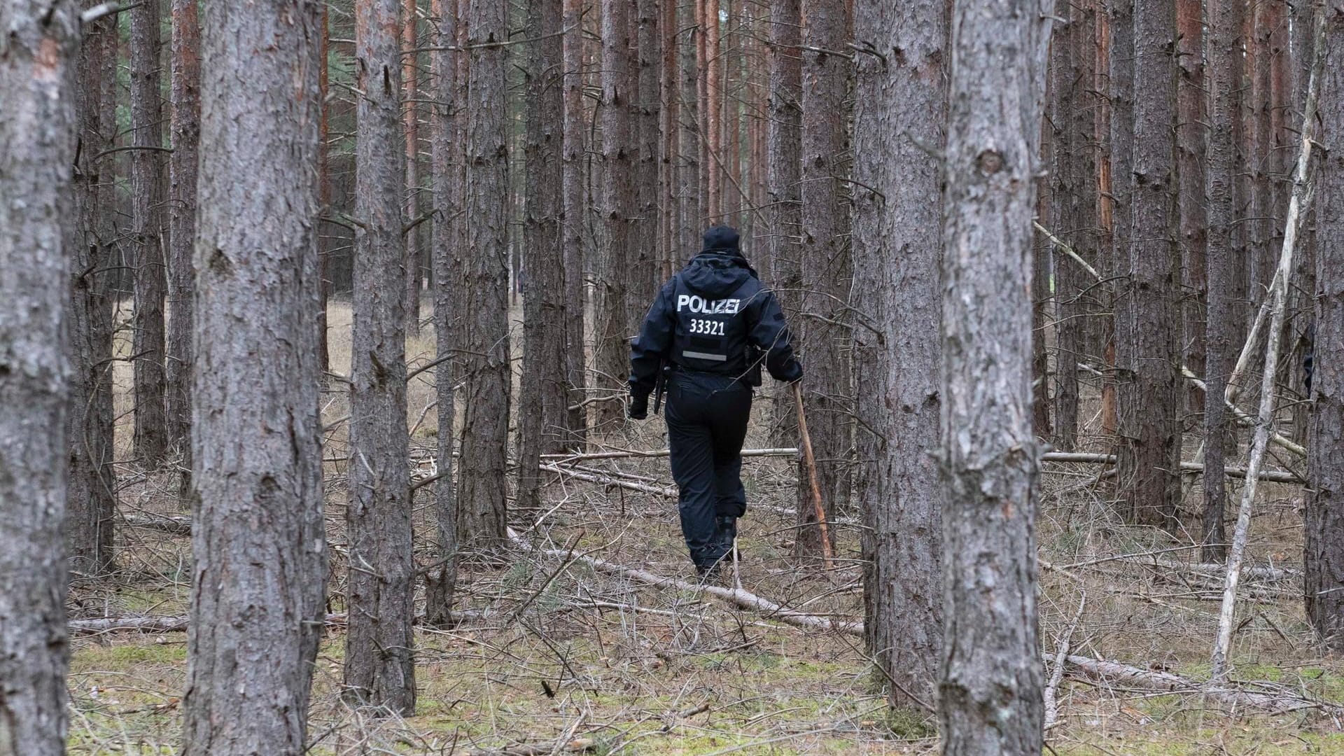
[[[160,0],[145,0],[130,13],[130,186],[136,288],[134,455],[155,467],[168,453],[164,385],[164,139],[163,78],[159,59]]]

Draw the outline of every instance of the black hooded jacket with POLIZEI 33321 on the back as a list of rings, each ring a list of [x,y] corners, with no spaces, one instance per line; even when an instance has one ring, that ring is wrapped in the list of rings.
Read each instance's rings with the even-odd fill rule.
[[[762,362],[778,381],[802,377],[780,301],[735,249],[702,252],[663,285],[630,347],[630,394],[649,395],[664,362],[751,386]]]

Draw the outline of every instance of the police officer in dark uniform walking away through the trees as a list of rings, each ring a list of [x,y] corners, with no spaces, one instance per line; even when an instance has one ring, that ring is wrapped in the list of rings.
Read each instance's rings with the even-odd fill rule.
[[[659,292],[630,348],[630,418],[648,417],[649,394],[667,381],[681,534],[702,578],[716,577],[746,513],[742,443],[762,363],[777,381],[802,378],[778,300],[742,257],[738,233],[714,226]]]

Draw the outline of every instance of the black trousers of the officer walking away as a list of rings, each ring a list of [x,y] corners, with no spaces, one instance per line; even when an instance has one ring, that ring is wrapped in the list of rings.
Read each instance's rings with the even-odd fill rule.
[[[719,518],[747,511],[742,443],[751,389],[728,375],[672,371],[668,377],[668,448],[680,491],[681,535],[691,560],[708,568],[732,549]]]

